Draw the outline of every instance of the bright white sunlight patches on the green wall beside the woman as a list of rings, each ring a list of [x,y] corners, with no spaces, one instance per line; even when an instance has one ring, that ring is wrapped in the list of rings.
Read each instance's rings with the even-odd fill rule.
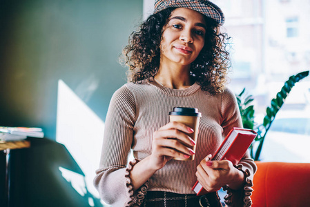
[[[104,121],[73,92],[64,81],[58,81],[56,141],[64,144],[85,174],[86,188],[99,197],[93,186],[95,170],[99,167]],[[65,179],[68,173],[61,168]],[[60,168],[59,168],[60,170]],[[72,186],[80,186],[79,176],[70,179]],[[76,182],[76,184],[74,184]],[[81,194],[81,188],[75,188]]]

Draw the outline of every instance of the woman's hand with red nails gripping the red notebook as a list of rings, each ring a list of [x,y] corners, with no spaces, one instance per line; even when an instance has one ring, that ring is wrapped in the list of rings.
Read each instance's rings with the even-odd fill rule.
[[[237,190],[244,184],[244,174],[233,166],[231,161],[210,161],[211,155],[206,156],[197,166],[197,180],[209,192],[217,191],[222,186]]]

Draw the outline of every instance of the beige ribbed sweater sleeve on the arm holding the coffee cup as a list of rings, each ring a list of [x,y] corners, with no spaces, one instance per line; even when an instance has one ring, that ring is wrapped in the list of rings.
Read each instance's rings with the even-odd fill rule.
[[[143,194],[133,193],[128,176],[137,162],[135,160],[128,164],[128,155],[133,143],[135,114],[135,97],[126,85],[122,86],[110,100],[99,169],[96,170],[97,175],[94,179],[94,185],[101,199],[112,206],[132,204],[137,195],[141,197]]]

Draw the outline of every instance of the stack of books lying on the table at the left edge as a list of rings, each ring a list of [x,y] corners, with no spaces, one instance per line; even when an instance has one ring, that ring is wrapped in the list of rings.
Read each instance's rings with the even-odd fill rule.
[[[19,141],[27,137],[43,138],[44,133],[41,128],[0,126],[0,141]]]

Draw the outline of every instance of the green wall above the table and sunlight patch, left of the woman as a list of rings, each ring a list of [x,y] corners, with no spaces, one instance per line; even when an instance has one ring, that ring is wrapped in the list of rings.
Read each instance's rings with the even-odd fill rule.
[[[55,139],[57,81],[99,80],[87,105],[102,119],[125,80],[118,56],[142,17],[142,0],[1,3],[1,122],[42,127]],[[79,94],[78,94],[79,95]]]

